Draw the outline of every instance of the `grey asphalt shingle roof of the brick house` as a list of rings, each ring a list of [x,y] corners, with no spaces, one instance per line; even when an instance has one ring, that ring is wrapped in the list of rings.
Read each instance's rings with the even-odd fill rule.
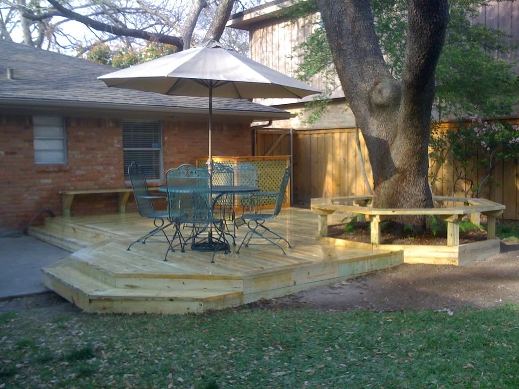
[[[12,68],[14,79],[7,79]],[[70,57],[52,51],[0,40],[0,99],[16,101],[45,100],[74,103],[129,105],[133,108],[208,109],[208,99],[190,96],[166,96],[159,93],[108,88],[98,76],[114,72],[115,68]],[[289,113],[281,109],[239,99],[213,99],[215,111],[272,114]]]

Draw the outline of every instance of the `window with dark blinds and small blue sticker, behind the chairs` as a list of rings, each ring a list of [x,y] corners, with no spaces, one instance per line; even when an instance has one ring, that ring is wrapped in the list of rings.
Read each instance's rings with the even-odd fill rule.
[[[129,180],[128,166],[137,162],[147,179],[161,179],[162,136],[158,121],[122,122],[122,148],[125,179]]]

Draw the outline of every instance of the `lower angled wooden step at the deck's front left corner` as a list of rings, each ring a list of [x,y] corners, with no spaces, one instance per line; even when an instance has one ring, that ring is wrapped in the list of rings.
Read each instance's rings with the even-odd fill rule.
[[[88,312],[200,313],[243,303],[242,291],[236,290],[114,288],[69,266],[42,271],[48,288]]]

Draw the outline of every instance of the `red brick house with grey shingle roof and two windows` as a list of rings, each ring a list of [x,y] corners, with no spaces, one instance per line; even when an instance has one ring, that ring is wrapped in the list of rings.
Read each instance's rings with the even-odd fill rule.
[[[134,160],[159,185],[167,169],[207,155],[207,99],[96,79],[113,70],[0,40],[0,228],[20,228],[42,208],[61,214],[61,190],[129,186]],[[220,156],[250,156],[252,122],[291,117],[247,100],[214,99],[213,109]],[[116,210],[117,195],[107,193],[76,196],[71,212]]]

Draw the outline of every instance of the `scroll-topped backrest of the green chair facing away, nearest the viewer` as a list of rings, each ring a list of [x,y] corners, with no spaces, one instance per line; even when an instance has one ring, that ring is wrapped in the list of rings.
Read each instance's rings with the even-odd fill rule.
[[[170,221],[209,221],[212,218],[210,176],[206,168],[190,164],[180,165],[166,172],[168,211]]]

